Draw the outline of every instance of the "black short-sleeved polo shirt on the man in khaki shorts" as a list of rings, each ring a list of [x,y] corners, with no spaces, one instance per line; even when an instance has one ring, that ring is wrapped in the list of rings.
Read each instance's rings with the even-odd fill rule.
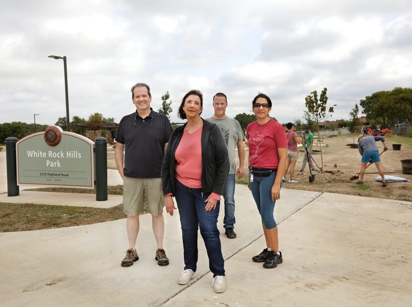
[[[116,133],[116,142],[125,144],[125,176],[133,178],[160,178],[164,144],[169,141],[172,126],[169,119],[150,108],[142,119],[137,112],[122,118]]]

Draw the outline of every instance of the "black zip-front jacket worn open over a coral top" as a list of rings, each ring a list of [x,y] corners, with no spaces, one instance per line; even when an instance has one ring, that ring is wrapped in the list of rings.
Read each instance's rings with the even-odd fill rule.
[[[175,195],[175,153],[186,124],[172,132],[167,144],[161,171],[164,195],[169,193]],[[229,174],[229,156],[226,142],[219,127],[203,120],[201,142],[203,192],[223,195],[224,185]]]

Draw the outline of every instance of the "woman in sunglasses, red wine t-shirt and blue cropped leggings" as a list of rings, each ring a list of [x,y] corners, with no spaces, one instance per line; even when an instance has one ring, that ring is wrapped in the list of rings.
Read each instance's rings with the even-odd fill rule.
[[[273,213],[275,202],[280,198],[282,177],[286,172],[287,139],[282,125],[269,117],[272,101],[267,95],[256,96],[252,108],[256,121],[246,128],[249,144],[248,187],[262,218],[267,246],[252,260],[265,262],[264,268],[275,268],[283,261]]]

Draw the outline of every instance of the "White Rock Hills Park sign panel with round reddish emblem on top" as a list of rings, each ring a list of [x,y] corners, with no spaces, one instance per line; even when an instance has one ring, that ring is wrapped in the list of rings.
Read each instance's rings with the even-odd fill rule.
[[[16,143],[17,185],[94,188],[94,142],[50,126]]]

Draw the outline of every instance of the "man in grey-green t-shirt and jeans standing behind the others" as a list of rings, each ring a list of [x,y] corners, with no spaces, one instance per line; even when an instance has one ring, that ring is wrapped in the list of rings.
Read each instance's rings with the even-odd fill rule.
[[[210,123],[215,123],[223,134],[226,141],[227,151],[229,153],[230,170],[227,176],[226,185],[223,192],[224,198],[224,219],[223,227],[225,235],[229,239],[236,238],[233,231],[235,227],[235,183],[236,175],[242,178],[245,174],[245,134],[243,133],[240,123],[235,119],[226,116],[227,97],[223,93],[217,93],[213,96],[214,115],[206,119]],[[239,167],[236,168],[235,150],[239,156]]]

